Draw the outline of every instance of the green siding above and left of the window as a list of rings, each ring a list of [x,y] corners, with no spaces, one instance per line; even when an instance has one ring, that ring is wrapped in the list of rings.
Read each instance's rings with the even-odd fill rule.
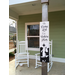
[[[40,21],[41,21],[40,14],[19,16],[19,20],[18,20],[18,38],[19,40],[20,41],[25,40],[25,23],[40,22]]]

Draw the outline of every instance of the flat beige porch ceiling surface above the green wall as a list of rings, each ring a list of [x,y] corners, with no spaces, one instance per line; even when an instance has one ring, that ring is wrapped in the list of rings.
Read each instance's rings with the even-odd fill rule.
[[[9,5],[9,9],[18,15],[36,14],[42,12],[41,0]],[[65,10],[65,0],[49,0],[49,12]]]

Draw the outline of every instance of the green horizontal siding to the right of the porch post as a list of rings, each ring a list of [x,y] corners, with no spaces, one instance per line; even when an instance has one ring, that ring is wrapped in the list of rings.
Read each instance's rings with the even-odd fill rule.
[[[54,57],[65,58],[65,12],[53,12],[49,16],[53,55]]]

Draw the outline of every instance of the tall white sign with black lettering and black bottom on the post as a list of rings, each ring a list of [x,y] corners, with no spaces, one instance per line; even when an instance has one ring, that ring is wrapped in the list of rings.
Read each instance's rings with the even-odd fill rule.
[[[40,22],[40,61],[49,62],[49,21]]]

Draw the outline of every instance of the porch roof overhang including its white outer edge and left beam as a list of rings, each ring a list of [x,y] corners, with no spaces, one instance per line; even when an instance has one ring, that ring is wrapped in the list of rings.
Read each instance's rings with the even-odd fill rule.
[[[42,13],[41,0],[28,0],[29,2],[24,1],[27,0],[9,0],[10,17],[18,19],[19,15]],[[49,0],[49,12],[61,10],[65,10],[65,0]]]

